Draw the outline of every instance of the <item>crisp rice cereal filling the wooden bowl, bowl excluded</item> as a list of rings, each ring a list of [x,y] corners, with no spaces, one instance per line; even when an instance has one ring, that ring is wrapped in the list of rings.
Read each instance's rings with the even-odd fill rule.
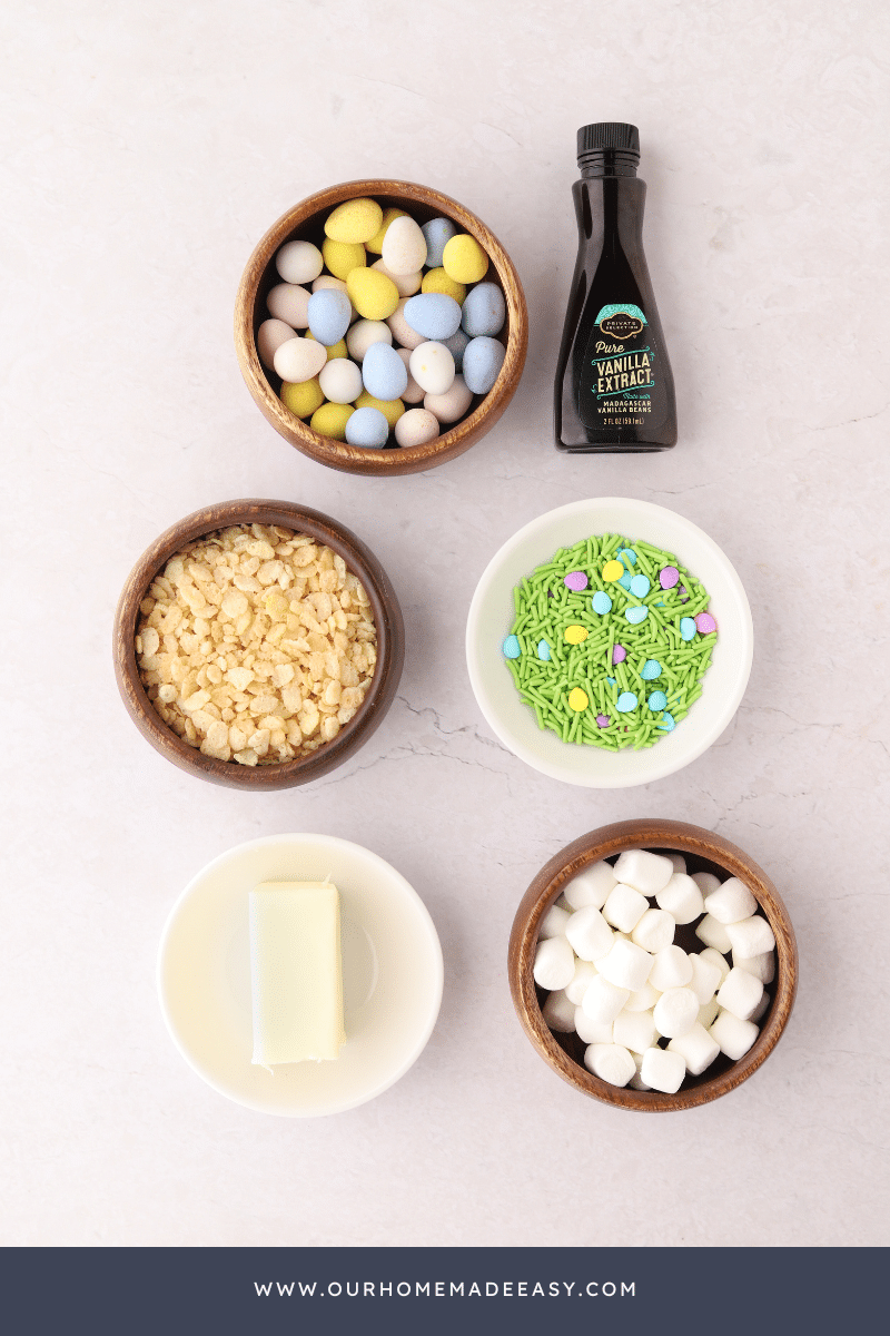
[[[136,628],[156,713],[216,760],[272,766],[331,741],[376,663],[368,596],[343,557],[278,525],[238,525],[176,553]]]

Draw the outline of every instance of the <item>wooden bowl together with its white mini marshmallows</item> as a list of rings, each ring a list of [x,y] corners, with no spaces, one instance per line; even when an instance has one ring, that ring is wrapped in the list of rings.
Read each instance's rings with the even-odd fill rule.
[[[798,973],[766,872],[721,835],[660,819],[604,826],[556,854],[516,910],[507,969],[554,1071],[648,1113],[707,1104],[753,1075],[785,1030]]]

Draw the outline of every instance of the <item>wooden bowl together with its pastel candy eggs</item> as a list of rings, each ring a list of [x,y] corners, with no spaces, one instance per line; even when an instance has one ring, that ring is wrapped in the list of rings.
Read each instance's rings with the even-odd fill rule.
[[[288,210],[235,305],[258,407],[346,473],[420,473],[463,454],[507,407],[527,342],[498,238],[450,196],[402,180],[347,182]]]

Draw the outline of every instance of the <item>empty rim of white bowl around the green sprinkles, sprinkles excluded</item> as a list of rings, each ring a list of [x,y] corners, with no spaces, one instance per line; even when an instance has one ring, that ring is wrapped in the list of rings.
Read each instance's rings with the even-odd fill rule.
[[[703,691],[686,719],[646,751],[610,752],[563,743],[538,728],[514,687],[502,645],[514,621],[512,589],[558,548],[600,533],[642,538],[675,553],[711,596],[717,644]],[[511,752],[551,779],[587,788],[630,788],[689,766],[739,707],[751,671],[754,627],[742,581],[713,538],[674,510],[628,497],[591,497],[548,510],[512,536],[476,585],[467,619],[467,668],[476,703]]]

